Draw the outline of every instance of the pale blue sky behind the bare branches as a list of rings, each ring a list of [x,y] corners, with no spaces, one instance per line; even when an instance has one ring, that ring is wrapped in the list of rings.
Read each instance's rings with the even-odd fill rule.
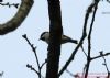
[[[20,3],[21,0],[4,0],[3,3]],[[61,0],[62,20],[64,34],[72,38],[80,40],[82,33],[82,24],[86,14],[86,10],[92,0]],[[0,24],[9,21],[16,13],[18,9],[14,7],[1,7],[0,5]],[[96,20],[94,24],[94,31],[91,36],[91,56],[99,55],[100,51],[103,53],[110,52],[110,3],[100,1]],[[91,15],[88,22],[88,29],[90,24]],[[34,54],[26,41],[22,37],[26,34],[29,40],[34,46],[37,47],[36,53],[42,64],[47,55],[47,44],[43,41],[38,41],[40,35],[44,31],[48,31],[48,9],[46,0],[35,0],[34,4],[26,16],[25,21],[19,29],[7,35],[0,35],[0,71],[4,71],[2,78],[38,78],[37,75],[26,68],[26,64],[33,65],[37,69]],[[87,31],[88,32],[88,31]],[[59,69],[64,66],[74,48],[73,43],[62,45],[62,55]],[[87,52],[87,38],[84,42],[85,51]],[[110,67],[110,56],[106,57],[108,67]],[[106,73],[106,67],[102,65],[103,59],[99,58],[91,62],[90,73]],[[84,65],[86,64],[86,56],[78,51],[75,60],[68,66],[68,70],[73,74],[82,73]],[[42,69],[42,75],[45,77],[45,66]],[[73,78],[66,71],[61,78]]]

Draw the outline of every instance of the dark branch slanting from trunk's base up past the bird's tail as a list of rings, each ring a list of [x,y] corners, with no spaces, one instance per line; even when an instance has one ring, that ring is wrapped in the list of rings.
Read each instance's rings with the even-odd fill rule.
[[[77,51],[78,51],[79,47],[82,45],[82,42],[84,42],[84,40],[85,40],[86,36],[87,36],[87,33],[86,33],[86,31],[87,31],[87,22],[88,22],[89,14],[92,12],[92,8],[94,8],[94,4],[91,3],[91,5],[88,8],[87,13],[86,13],[86,16],[85,16],[82,36],[81,36],[81,38],[80,38],[80,41],[79,41],[79,44],[78,44],[78,45],[76,46],[76,48],[74,49],[72,56],[70,56],[69,59],[66,62],[66,64],[64,65],[64,67],[61,69],[58,76],[61,76],[61,75],[65,71],[65,69],[68,67],[68,65],[72,63],[72,60],[74,60],[74,57],[75,57]]]

